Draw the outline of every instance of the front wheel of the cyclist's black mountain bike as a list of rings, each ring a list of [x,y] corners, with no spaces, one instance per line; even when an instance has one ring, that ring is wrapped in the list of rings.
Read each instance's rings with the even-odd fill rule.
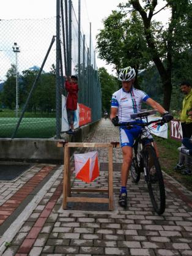
[[[152,146],[144,148],[147,187],[150,200],[157,214],[163,214],[166,206],[164,181],[155,149]]]

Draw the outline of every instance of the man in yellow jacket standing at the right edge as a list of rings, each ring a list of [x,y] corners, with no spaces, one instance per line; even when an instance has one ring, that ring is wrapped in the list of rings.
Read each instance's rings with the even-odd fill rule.
[[[191,84],[188,81],[183,81],[180,84],[180,89],[185,94],[183,99],[182,113],[180,115],[180,122],[182,125],[183,138],[191,138],[192,135],[192,90]],[[175,170],[183,168],[183,162],[186,162],[186,168],[182,170],[182,174],[191,175],[190,170],[190,157],[179,154],[179,163],[176,165]]]

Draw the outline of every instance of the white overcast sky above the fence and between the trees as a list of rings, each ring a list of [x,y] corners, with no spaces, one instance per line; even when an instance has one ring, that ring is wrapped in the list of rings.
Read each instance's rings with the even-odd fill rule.
[[[73,2],[74,6],[78,4],[78,0],[73,0]],[[87,31],[89,22],[92,23],[92,37],[94,40],[94,46],[96,44],[95,36],[98,34],[99,29],[103,28],[103,18],[108,17],[111,10],[117,9],[119,2],[126,2],[126,0],[81,0],[81,13],[84,21],[86,21],[85,23],[87,24],[87,28],[83,28],[83,30]],[[159,2],[161,4],[160,6],[164,4],[163,0],[160,0]],[[55,16],[56,0],[1,0],[0,20],[42,19]],[[157,16],[157,18],[161,21],[167,20],[168,12],[164,11]],[[84,26],[84,24],[82,25]],[[97,66],[105,66],[105,62],[97,59]],[[105,67],[111,73],[111,67]]]

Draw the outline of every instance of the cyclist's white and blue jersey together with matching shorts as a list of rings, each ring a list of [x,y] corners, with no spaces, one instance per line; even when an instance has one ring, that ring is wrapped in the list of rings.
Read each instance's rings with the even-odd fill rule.
[[[131,88],[129,92],[126,92],[123,88],[114,92],[111,100],[111,107],[118,108],[117,115],[120,123],[135,122],[131,119],[130,115],[133,113],[141,112],[142,102],[146,102],[149,96],[138,89]],[[134,139],[138,137],[141,132],[141,126],[134,126],[131,129],[124,129],[120,127],[120,145],[133,146]],[[151,139],[151,136],[149,134]]]

